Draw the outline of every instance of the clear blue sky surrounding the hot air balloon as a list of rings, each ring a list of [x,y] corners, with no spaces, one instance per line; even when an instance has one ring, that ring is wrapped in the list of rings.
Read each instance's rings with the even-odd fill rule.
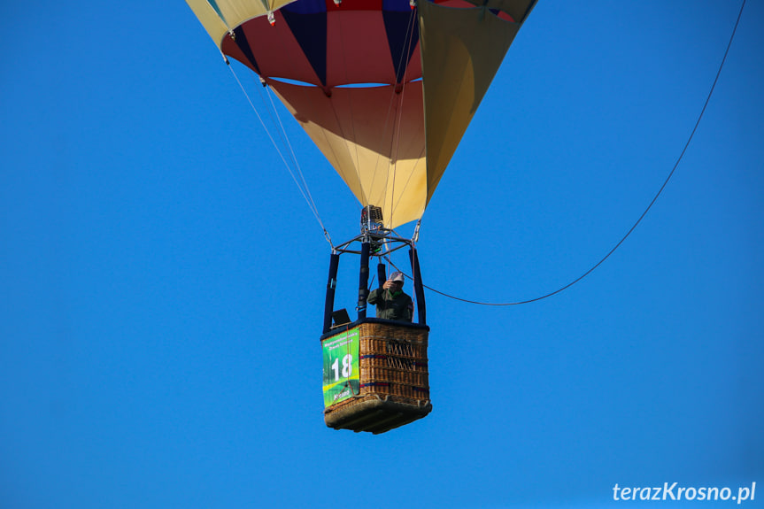
[[[596,264],[739,8],[542,0],[425,213],[425,283],[517,302]],[[640,503],[615,483],[664,482],[757,482],[764,506],[761,0],[603,265],[527,305],[428,292],[434,410],[382,436],[323,424],[329,246],[188,6],[0,19],[0,506],[618,507]],[[332,238],[355,235],[283,118]]]

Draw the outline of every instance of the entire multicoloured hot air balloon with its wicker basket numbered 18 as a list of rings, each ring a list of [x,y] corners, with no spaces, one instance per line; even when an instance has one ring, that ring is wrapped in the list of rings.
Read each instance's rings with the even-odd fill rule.
[[[363,206],[332,246],[325,421],[382,433],[432,409],[415,242],[459,140],[536,0],[186,0],[227,58],[257,73]],[[369,259],[409,248],[419,323],[366,316]],[[360,257],[358,320],[334,320],[339,256]],[[385,281],[385,266],[377,267]]]

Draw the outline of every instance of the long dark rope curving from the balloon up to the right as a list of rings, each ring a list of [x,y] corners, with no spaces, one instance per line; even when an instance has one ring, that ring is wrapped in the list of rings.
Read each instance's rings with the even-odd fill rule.
[[[646,209],[644,209],[644,212],[642,212],[642,215],[639,216],[639,219],[637,219],[637,222],[635,222],[634,225],[631,228],[629,228],[629,231],[626,232],[626,235],[623,235],[621,240],[618,241],[618,243],[615,244],[614,248],[611,249],[610,251],[608,251],[607,254],[602,259],[600,259],[594,266],[592,266],[588,271],[586,271],[582,275],[578,276],[575,280],[570,281],[569,283],[567,283],[565,286],[563,286],[560,289],[556,289],[556,290],[554,290],[554,291],[552,291],[550,293],[547,293],[546,295],[543,295],[541,297],[530,298],[528,300],[521,300],[521,301],[517,301],[517,302],[491,303],[491,302],[482,302],[482,301],[476,301],[476,300],[469,300],[469,299],[466,299],[466,298],[452,296],[450,294],[445,293],[444,291],[440,291],[438,289],[431,288],[431,287],[429,287],[429,286],[427,286],[425,284],[422,284],[422,286],[424,288],[430,290],[430,291],[434,291],[436,294],[442,295],[444,297],[452,298],[452,299],[458,300],[460,302],[466,302],[468,304],[494,305],[494,306],[521,305],[521,304],[529,304],[529,303],[532,303],[532,302],[536,302],[536,301],[542,300],[542,299],[547,298],[547,297],[552,297],[554,295],[557,295],[561,291],[564,291],[564,290],[572,287],[578,281],[583,280],[583,278],[585,278],[586,276],[588,276],[589,274],[594,272],[594,270],[598,266],[601,266],[605,262],[605,260],[607,258],[610,258],[610,255],[612,255],[615,252],[615,250],[617,250],[619,247],[621,247],[621,244],[624,243],[624,241],[626,241],[626,239],[629,237],[629,235],[631,235],[631,232],[633,232],[637,228],[637,225],[639,225],[639,223],[644,219],[644,216],[647,215],[647,212],[650,211],[650,209],[652,208],[652,205],[655,204],[655,202],[658,200],[658,197],[660,197],[660,194],[663,192],[663,189],[666,189],[666,186],[668,185],[668,181],[671,180],[671,177],[674,175],[677,166],[679,166],[679,163],[682,161],[682,158],[684,157],[684,153],[687,151],[687,148],[690,146],[690,143],[692,141],[692,137],[695,135],[695,132],[698,130],[698,126],[700,125],[700,120],[703,119],[703,114],[706,112],[706,108],[708,106],[708,103],[711,101],[711,96],[714,94],[714,89],[716,88],[716,83],[717,83],[717,81],[719,81],[719,76],[722,74],[722,68],[724,67],[724,62],[727,60],[727,56],[729,54],[729,48],[732,46],[732,41],[735,39],[735,33],[737,32],[737,25],[740,23],[740,18],[743,15],[743,9],[744,8],[745,8],[745,0],[743,0],[743,4],[740,5],[740,12],[737,13],[737,20],[735,21],[735,27],[732,28],[732,35],[729,36],[729,42],[727,43],[727,50],[724,51],[724,57],[722,58],[722,63],[719,66],[719,70],[716,72],[716,77],[714,78],[714,82],[711,85],[711,89],[708,91],[708,95],[706,96],[706,103],[703,104],[703,108],[701,108],[700,114],[698,115],[698,120],[696,120],[695,126],[692,127],[692,131],[690,133],[690,137],[687,139],[687,143],[684,143],[684,148],[682,149],[682,152],[679,154],[679,158],[676,159],[674,167],[671,168],[671,172],[669,172],[668,177],[666,178],[666,181],[664,181],[663,185],[660,186],[660,189],[658,189],[658,192],[655,194],[655,197],[652,198],[652,201],[650,202],[650,204],[647,205]],[[392,264],[390,264],[390,265],[392,265]],[[396,267],[396,269],[400,270],[397,267]],[[406,274],[406,277],[408,277],[409,279],[413,279],[408,274]]]

